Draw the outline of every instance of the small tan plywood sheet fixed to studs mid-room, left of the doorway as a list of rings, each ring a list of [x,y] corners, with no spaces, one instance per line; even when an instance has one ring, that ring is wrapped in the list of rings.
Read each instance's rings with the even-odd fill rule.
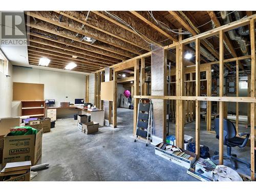
[[[101,82],[100,99],[114,101],[114,81]]]

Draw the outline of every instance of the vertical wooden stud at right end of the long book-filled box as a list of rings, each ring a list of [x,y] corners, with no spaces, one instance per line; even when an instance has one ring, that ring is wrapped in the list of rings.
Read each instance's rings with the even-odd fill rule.
[[[200,39],[196,39],[196,96],[200,96]],[[196,101],[196,154],[200,157],[200,101]]]

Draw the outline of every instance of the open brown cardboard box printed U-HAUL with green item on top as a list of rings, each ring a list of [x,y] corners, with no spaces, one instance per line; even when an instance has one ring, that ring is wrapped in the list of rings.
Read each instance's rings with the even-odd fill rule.
[[[31,161],[35,165],[42,153],[42,133],[41,129],[36,135],[4,136],[2,167],[18,161]]]

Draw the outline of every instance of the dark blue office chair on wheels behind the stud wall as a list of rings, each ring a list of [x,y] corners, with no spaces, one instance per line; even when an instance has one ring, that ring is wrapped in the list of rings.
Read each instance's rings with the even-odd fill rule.
[[[219,139],[219,120],[220,120],[219,118],[216,118],[214,120],[215,132],[216,132],[217,139]],[[237,135],[237,130],[236,130],[236,127],[234,126],[234,124],[227,119],[223,119],[223,144],[227,146],[227,155],[223,155],[223,159],[229,159],[231,161],[233,169],[237,169],[236,161],[244,163],[244,164],[246,164],[246,166],[248,168],[250,168],[251,167],[250,163],[237,158],[236,154],[231,154],[232,147],[235,147],[235,146],[239,146],[240,148],[245,147],[250,134],[249,133],[240,133],[239,134],[239,136],[246,135],[245,139],[236,137],[236,135]],[[219,155],[214,155],[211,158],[211,160],[214,161],[214,163],[216,163],[217,159],[219,159]],[[218,163],[216,163],[216,164],[218,164]]]

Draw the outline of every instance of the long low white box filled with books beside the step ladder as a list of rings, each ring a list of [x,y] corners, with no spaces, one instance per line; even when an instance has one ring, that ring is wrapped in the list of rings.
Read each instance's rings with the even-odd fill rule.
[[[160,144],[160,143],[159,143]],[[197,160],[197,155],[195,153],[189,152],[187,150],[183,150],[182,148],[180,149],[182,152],[190,155],[191,157],[193,157],[193,160],[188,160],[179,156],[176,156],[172,153],[168,153],[165,150],[161,150],[161,148],[159,148],[158,145],[155,146],[155,154],[159,155],[160,157],[163,157],[164,159],[167,159],[169,161],[172,161],[178,165],[181,165],[185,168],[190,168]]]

